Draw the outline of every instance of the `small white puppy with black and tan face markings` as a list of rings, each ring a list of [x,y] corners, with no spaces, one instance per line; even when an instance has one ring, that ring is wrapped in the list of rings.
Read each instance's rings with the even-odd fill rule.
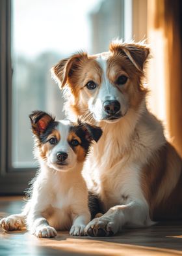
[[[90,212],[81,170],[92,141],[97,142],[102,131],[86,123],[55,121],[41,111],[30,118],[40,170],[23,212],[1,219],[1,227],[12,231],[26,226],[38,237],[70,229],[72,235],[83,235]]]

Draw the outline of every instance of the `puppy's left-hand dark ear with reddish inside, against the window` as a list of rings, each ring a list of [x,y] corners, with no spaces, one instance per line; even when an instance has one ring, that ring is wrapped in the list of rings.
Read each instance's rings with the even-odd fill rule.
[[[55,118],[49,114],[38,110],[32,112],[32,114],[29,115],[29,118],[31,120],[32,133],[37,136],[44,133],[48,125],[55,121]]]

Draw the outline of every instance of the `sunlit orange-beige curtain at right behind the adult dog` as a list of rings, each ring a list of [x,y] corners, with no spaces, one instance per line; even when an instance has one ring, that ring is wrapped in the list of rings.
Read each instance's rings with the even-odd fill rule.
[[[162,119],[166,119],[172,144],[182,156],[181,7],[181,0],[148,0],[148,37],[154,55],[149,81],[155,97],[161,97],[157,102],[165,105]]]

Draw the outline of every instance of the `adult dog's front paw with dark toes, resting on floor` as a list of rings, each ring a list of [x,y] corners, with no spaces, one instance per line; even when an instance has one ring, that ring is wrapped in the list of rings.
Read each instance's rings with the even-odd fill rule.
[[[88,236],[113,236],[116,232],[118,232],[118,225],[105,216],[93,219],[85,228]]]

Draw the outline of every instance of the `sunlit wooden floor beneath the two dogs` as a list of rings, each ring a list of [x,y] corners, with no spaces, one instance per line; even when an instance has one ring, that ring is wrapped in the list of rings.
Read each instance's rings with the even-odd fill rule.
[[[20,197],[0,197],[0,217],[17,214],[21,206]],[[110,238],[75,237],[68,232],[59,232],[56,238],[36,238],[26,231],[1,229],[0,255],[182,255],[182,221],[123,230]]]

